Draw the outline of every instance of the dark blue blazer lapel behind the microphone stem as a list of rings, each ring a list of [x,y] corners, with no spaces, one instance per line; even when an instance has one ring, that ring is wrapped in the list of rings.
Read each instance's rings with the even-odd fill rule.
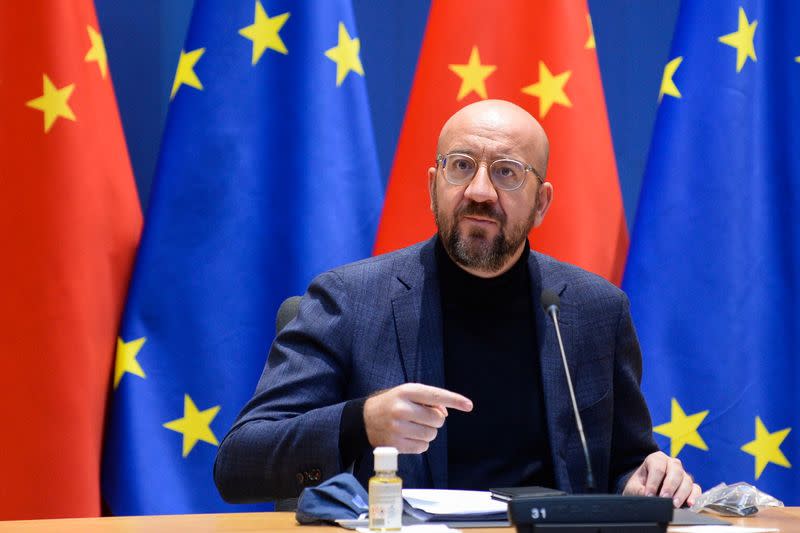
[[[546,274],[543,274],[540,269],[535,254],[531,254],[528,267],[531,276],[531,298],[533,298],[536,320],[536,338],[539,343],[539,363],[542,370],[542,389],[545,411],[547,412],[547,429],[553,458],[553,472],[557,487],[570,492],[571,484],[566,463],[567,436],[570,434],[570,428],[574,426],[575,422],[569,401],[567,379],[564,375],[556,329],[553,326],[552,319],[542,309],[540,301],[542,289],[550,289],[560,296],[566,290],[566,284],[547,279]],[[568,350],[568,340],[564,338],[568,324],[559,321],[559,325],[565,349]],[[570,368],[570,373],[574,375],[572,368]]]

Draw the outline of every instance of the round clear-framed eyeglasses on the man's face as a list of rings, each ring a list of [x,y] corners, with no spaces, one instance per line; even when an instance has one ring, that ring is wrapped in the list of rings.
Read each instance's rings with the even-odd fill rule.
[[[466,185],[478,172],[478,162],[467,154],[437,154],[436,164],[442,165],[444,179],[453,185]],[[514,159],[495,159],[489,164],[489,179],[495,187],[504,191],[515,191],[522,187],[528,172],[532,172],[539,183],[544,183],[544,179],[531,165]]]

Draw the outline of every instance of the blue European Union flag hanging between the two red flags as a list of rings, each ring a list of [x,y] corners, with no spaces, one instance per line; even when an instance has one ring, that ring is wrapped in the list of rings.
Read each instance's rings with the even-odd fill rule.
[[[212,467],[278,306],[374,243],[360,46],[349,0],[196,2],[118,340],[114,514],[253,509],[222,502]]]

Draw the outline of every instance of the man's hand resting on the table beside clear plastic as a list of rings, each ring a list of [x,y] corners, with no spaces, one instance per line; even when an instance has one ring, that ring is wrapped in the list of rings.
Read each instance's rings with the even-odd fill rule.
[[[672,498],[675,507],[680,507],[684,502],[693,505],[700,492],[700,485],[683,469],[680,459],[655,452],[631,474],[622,494]]]

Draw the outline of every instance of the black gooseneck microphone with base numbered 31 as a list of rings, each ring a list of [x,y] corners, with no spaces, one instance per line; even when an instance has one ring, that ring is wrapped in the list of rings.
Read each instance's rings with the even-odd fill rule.
[[[589,447],[558,326],[560,300],[555,292],[547,289],[542,291],[542,308],[552,318],[556,330],[575,425],[586,460],[586,489],[592,492],[595,480]],[[618,494],[512,496],[508,502],[508,518],[518,533],[664,533],[672,514],[672,500],[669,498]]]

